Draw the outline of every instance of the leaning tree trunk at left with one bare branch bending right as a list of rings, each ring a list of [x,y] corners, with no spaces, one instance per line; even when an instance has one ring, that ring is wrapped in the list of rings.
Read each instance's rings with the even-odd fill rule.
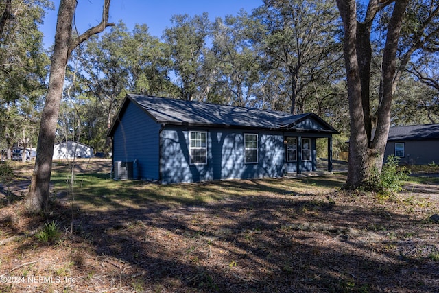
[[[84,40],[93,34],[102,32],[106,26],[112,25],[108,24],[110,0],[105,0],[101,23],[91,27],[84,34],[78,36],[78,38],[72,39],[72,24],[76,3],[77,0],[61,0],[58,10],[54,54],[51,58],[49,73],[49,87],[41,116],[35,167],[32,174],[29,196],[27,197],[27,208],[30,211],[44,211],[47,209],[49,202],[49,183],[56,126],[62,98],[62,88],[64,86],[65,69],[69,56],[73,49]]]

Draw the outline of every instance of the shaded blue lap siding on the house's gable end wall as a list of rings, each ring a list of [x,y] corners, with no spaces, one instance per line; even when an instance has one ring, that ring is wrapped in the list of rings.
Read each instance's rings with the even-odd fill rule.
[[[158,180],[160,127],[141,108],[129,103],[115,130],[113,160],[137,159],[140,178]]]

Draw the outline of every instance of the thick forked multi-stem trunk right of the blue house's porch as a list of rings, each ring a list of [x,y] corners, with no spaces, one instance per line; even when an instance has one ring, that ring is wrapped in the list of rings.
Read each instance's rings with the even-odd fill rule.
[[[390,128],[390,105],[392,104],[396,70],[396,50],[407,1],[394,1],[394,9],[383,51],[382,87],[377,110],[377,128],[371,141],[370,27],[377,11],[383,7],[380,5],[388,5],[393,1],[385,1],[380,4],[377,0],[371,0],[366,13],[366,21],[357,23],[355,0],[337,0],[344,24],[344,60],[351,122],[348,178],[346,180],[348,188],[364,185],[372,176],[381,173]]]

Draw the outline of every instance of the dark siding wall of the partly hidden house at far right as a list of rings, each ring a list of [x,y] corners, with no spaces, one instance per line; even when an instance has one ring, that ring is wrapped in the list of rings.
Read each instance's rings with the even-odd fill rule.
[[[400,158],[403,165],[427,165],[439,163],[438,140],[389,141],[385,147],[384,158],[394,155],[395,143],[404,143],[405,156]]]

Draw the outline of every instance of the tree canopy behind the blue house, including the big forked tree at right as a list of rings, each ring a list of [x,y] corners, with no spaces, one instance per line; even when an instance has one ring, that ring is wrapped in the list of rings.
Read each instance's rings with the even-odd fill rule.
[[[51,8],[0,2],[2,150],[39,144],[50,60],[38,25]],[[351,141],[348,185],[361,185],[381,168],[390,126],[439,121],[438,10],[436,0],[264,0],[216,19],[174,15],[161,38],[123,20],[105,36],[70,27],[54,139],[110,152],[125,93],[314,112]]]

